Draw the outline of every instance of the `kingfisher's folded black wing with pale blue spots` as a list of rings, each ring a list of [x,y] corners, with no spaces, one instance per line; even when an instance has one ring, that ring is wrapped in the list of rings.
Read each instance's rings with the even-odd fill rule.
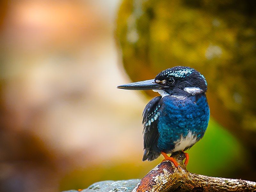
[[[142,161],[152,161],[160,155],[157,148],[158,129],[157,121],[159,116],[158,102],[162,96],[158,96],[149,101],[143,111],[143,133],[144,133],[144,155]]]

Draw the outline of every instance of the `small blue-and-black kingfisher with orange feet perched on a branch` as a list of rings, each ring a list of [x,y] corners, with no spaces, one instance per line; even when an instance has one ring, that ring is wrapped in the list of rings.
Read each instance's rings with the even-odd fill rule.
[[[205,77],[194,68],[177,66],[156,75],[155,79],[117,86],[127,90],[153,90],[157,96],[143,110],[144,155],[152,161],[161,154],[179,168],[167,154],[184,152],[203,138],[210,118]],[[162,161],[162,162],[163,162]]]

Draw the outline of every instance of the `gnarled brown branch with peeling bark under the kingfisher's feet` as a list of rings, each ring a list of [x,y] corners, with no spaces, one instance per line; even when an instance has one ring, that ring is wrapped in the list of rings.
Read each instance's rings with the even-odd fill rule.
[[[152,169],[132,192],[157,191],[256,191],[256,182],[241,179],[208,177],[188,172],[184,163],[184,153],[172,155],[180,164],[178,170],[172,162],[165,161]]]

